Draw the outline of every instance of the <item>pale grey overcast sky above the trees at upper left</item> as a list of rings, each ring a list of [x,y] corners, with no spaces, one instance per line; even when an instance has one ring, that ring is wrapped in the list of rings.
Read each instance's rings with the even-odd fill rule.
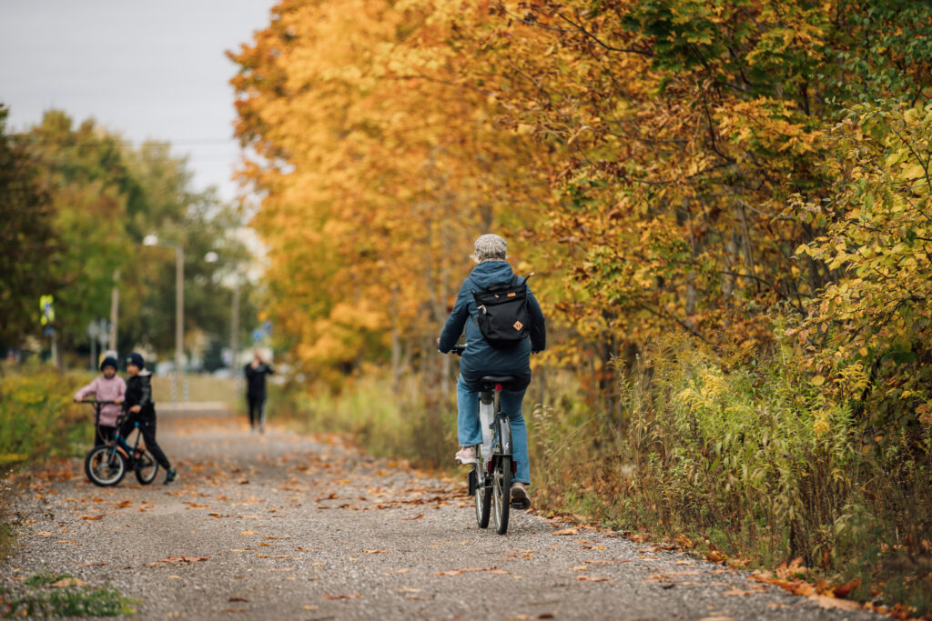
[[[232,198],[236,73],[274,0],[0,0],[0,102],[21,130],[49,108],[189,155],[198,188]]]

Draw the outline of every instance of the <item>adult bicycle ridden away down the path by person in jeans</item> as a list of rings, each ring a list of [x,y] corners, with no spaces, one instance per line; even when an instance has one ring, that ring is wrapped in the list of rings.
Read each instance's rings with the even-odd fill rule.
[[[462,356],[466,345],[455,345],[450,352]],[[517,469],[512,452],[512,424],[501,412],[501,391],[517,380],[511,375],[487,375],[479,392],[479,425],[482,444],[477,463],[469,471],[469,494],[475,498],[475,520],[479,528],[488,528],[494,516],[495,532],[508,532],[512,477]]]

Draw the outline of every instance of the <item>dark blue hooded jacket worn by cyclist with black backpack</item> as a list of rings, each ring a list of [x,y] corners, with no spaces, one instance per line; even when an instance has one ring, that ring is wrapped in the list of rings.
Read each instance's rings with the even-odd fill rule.
[[[547,346],[547,329],[544,325],[541,305],[528,288],[528,310],[530,311],[530,336],[510,349],[496,349],[486,342],[476,324],[478,310],[473,299],[473,290],[487,289],[492,285],[512,281],[512,266],[504,261],[487,261],[473,267],[473,271],[459,288],[457,303],[446,319],[437,348],[447,353],[457,344],[466,329],[466,351],[459,363],[459,372],[473,389],[483,375],[514,375],[519,378],[515,388],[524,388],[530,383],[530,353],[543,351]],[[518,277],[518,283],[524,278]]]

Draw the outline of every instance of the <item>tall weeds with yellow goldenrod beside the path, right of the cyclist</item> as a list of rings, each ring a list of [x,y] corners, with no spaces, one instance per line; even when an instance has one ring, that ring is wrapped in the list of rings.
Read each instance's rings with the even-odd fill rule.
[[[620,371],[623,415],[533,416],[541,499],[632,530],[773,566],[802,558],[929,609],[932,439],[867,434],[791,352],[717,357],[668,338]],[[561,408],[567,407],[568,411]],[[868,577],[870,576],[870,579]]]

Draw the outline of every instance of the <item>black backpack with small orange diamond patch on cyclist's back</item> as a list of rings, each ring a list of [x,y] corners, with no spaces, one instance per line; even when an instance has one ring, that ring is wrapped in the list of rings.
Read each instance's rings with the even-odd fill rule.
[[[493,347],[507,349],[528,336],[528,278],[519,285],[518,277],[513,276],[510,283],[473,290],[479,309],[475,325]]]

